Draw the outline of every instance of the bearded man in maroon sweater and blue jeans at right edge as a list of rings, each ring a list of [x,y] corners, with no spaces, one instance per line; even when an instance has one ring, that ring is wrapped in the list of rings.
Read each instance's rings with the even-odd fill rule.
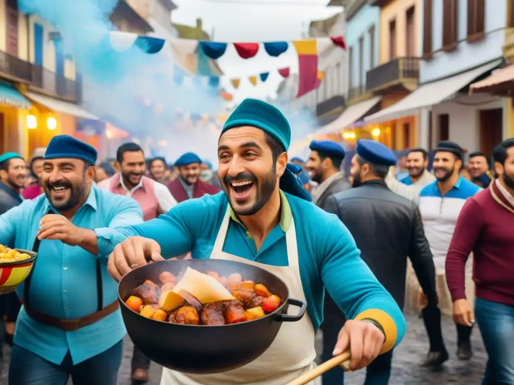
[[[458,216],[446,257],[455,322],[471,326],[466,261],[473,252],[475,314],[489,355],[484,384],[514,383],[514,138],[493,150],[498,175],[469,198]]]

